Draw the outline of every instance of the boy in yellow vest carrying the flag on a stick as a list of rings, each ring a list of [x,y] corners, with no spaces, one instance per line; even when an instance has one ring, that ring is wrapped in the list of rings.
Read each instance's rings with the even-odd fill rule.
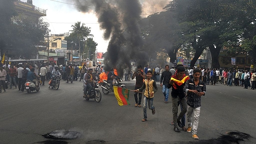
[[[144,92],[144,104],[143,104],[143,116],[144,118],[141,120],[142,122],[147,121],[147,103],[148,108],[152,110],[152,114],[156,113],[155,107],[153,106],[154,94],[157,91],[156,81],[152,80],[152,72],[148,70],[147,72],[147,79],[144,80],[143,85],[141,88],[134,90],[134,92]]]

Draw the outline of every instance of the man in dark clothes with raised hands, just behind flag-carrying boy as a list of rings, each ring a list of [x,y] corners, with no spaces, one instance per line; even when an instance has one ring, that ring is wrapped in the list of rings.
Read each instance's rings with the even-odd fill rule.
[[[136,84],[135,84],[134,90],[137,90],[137,89],[139,89],[143,86],[144,79],[146,79],[146,74],[145,74],[145,72],[143,72],[141,65],[137,66],[137,71],[133,73],[132,80],[135,77],[136,77]],[[142,92],[142,91],[140,91],[140,92]],[[138,99],[138,96],[137,96],[138,94],[139,94],[139,99]],[[134,91],[134,99],[135,99],[135,103],[136,103],[135,107],[137,107],[137,106],[141,107],[140,106],[141,98],[142,98],[142,93],[138,93],[138,92]]]

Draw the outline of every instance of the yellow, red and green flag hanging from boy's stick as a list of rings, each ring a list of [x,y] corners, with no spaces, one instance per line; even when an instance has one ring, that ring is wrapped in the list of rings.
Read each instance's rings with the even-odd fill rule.
[[[128,101],[130,90],[125,89],[125,88],[120,88],[117,86],[113,86],[113,88],[114,88],[114,94],[116,96],[116,100],[117,100],[119,106],[130,105],[130,103]]]

